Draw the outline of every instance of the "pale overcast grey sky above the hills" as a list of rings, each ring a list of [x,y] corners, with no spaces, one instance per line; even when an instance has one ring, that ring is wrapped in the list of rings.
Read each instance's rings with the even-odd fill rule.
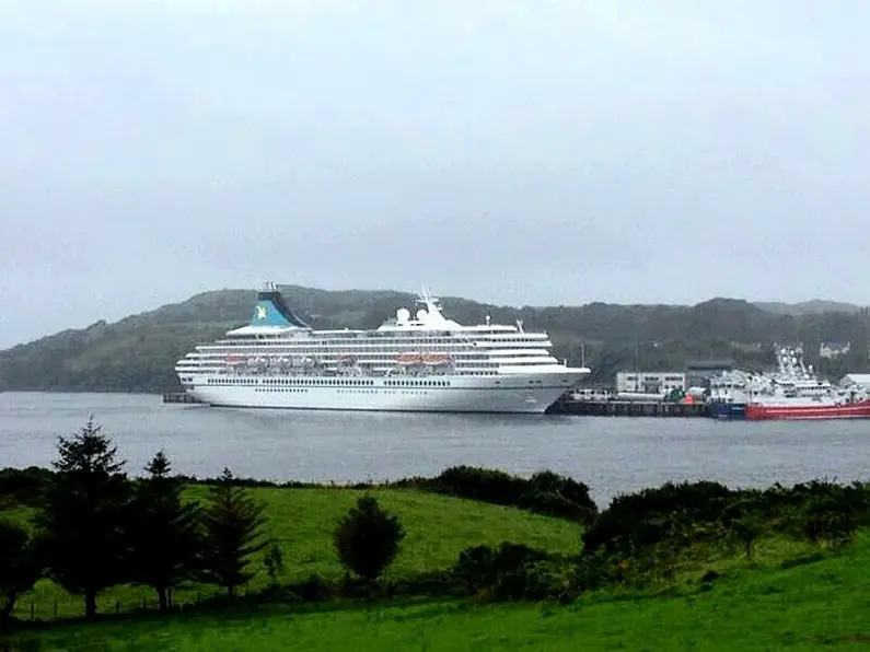
[[[266,279],[870,303],[868,24],[858,0],[0,0],[0,348]]]

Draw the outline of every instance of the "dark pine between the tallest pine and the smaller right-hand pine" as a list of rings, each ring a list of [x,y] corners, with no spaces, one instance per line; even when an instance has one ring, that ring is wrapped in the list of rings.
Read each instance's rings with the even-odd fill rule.
[[[156,591],[163,612],[167,591],[194,577],[200,551],[199,504],[182,500],[184,486],[170,476],[170,462],[158,452],[149,476],[135,490],[129,525],[128,564],[134,582]]]

